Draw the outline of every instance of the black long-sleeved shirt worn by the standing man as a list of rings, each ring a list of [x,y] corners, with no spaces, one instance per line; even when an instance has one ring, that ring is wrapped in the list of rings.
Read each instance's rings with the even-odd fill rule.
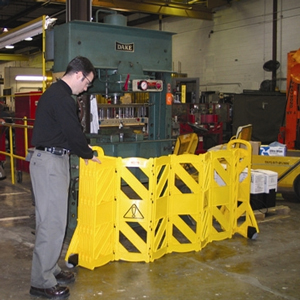
[[[77,117],[72,90],[63,80],[53,83],[38,102],[32,145],[61,147],[85,159],[93,157]]]

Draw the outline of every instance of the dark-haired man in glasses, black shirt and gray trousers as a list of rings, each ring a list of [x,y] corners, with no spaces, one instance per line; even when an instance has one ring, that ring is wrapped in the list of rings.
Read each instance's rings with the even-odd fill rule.
[[[41,96],[32,135],[35,151],[30,161],[30,176],[35,197],[36,240],[33,251],[30,294],[49,299],[70,295],[72,272],[62,271],[60,257],[67,224],[69,151],[101,163],[93,155],[77,117],[73,95],[91,86],[95,69],[78,56],[67,66],[62,79]]]

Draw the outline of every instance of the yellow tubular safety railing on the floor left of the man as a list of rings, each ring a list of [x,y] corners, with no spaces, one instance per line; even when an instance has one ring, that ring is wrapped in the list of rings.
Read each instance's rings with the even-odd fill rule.
[[[12,184],[15,184],[15,161],[14,159],[26,159],[26,154],[28,151],[28,129],[32,129],[33,126],[27,124],[27,117],[24,117],[21,119],[23,121],[23,124],[16,124],[16,123],[1,123],[0,127],[8,127],[9,129],[9,152],[5,151],[6,149],[3,149],[2,151],[0,149],[0,154],[4,154],[5,156],[10,157],[10,169],[11,169],[11,182]],[[20,156],[14,154],[14,141],[13,141],[13,128],[23,128],[24,129],[24,149],[25,149],[25,156]],[[2,134],[5,134],[4,132]],[[3,138],[3,137],[0,137]],[[5,137],[4,137],[5,138]]]

